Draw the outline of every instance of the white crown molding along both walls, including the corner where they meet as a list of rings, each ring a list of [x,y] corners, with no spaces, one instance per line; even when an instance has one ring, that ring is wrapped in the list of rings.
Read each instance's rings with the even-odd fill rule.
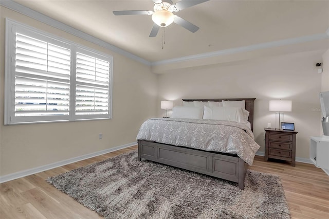
[[[243,46],[243,47],[237,47],[237,48],[231,48],[231,49],[224,49],[224,50],[218,50],[214,52],[207,52],[207,53],[200,53],[195,54],[192,56],[185,56],[180,58],[174,58],[174,59],[167,59],[167,60],[161,60],[156,62],[150,62],[145,59],[142,59],[130,52],[127,52],[119,47],[116,47],[112,44],[106,43],[98,38],[95,38],[92,35],[89,35],[85,32],[82,32],[78,29],[75,29],[73,27],[70,27],[64,23],[61,23],[59,21],[56,21],[54,19],[51,19],[50,17],[39,13],[37,11],[34,11],[30,8],[27,8],[23,5],[20,5],[12,0],[6,0],[6,1],[0,1],[0,5],[9,8],[11,10],[14,10],[16,12],[22,13],[26,16],[32,17],[35,20],[38,20],[40,22],[43,22],[47,25],[50,25],[52,27],[61,29],[65,32],[68,32],[72,35],[78,36],[81,39],[87,40],[89,42],[95,43],[99,46],[102,46],[106,49],[109,49],[111,51],[117,52],[119,54],[122,54],[123,56],[133,59],[135,61],[141,62],[148,66],[158,66],[158,65],[164,65],[164,64],[171,64],[171,63],[177,63],[177,62],[184,62],[184,61],[191,61],[191,60],[197,60],[197,59],[205,59],[205,58],[211,58],[216,56],[225,56],[228,54],[233,53],[240,53],[240,52],[246,52],[246,51],[253,51],[253,50],[260,50],[260,49],[267,49],[267,48],[273,48],[273,47],[279,47],[279,46],[286,46],[286,45],[293,45],[293,44],[299,44],[299,43],[306,43],[306,42],[312,42],[312,41],[318,41],[323,39],[329,39],[329,29],[326,30],[325,33],[319,33],[314,35],[308,35],[308,36],[302,36],[299,38],[293,38],[293,39],[286,39],[286,40],[280,40],[280,41],[273,41],[268,43],[261,43],[261,44],[254,44],[249,46]]]

